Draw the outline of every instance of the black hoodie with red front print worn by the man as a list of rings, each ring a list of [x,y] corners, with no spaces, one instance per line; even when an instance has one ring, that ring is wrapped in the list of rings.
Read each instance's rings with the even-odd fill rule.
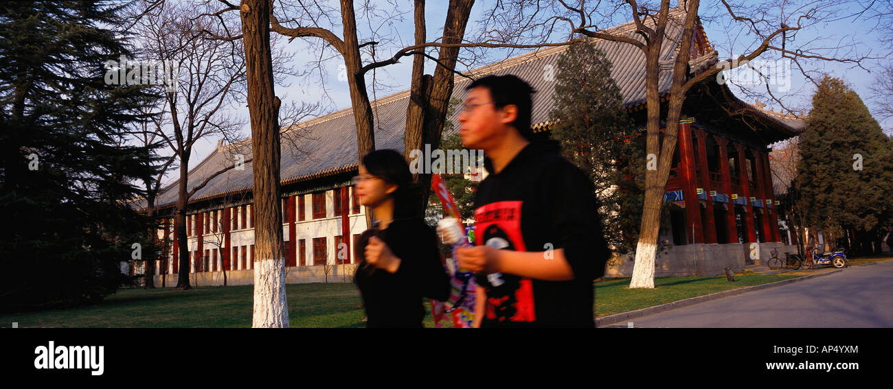
[[[474,199],[476,244],[519,252],[564,249],[570,281],[544,281],[496,273],[478,275],[487,291],[481,327],[593,327],[592,280],[601,277],[610,251],[588,177],[559,153],[555,141],[530,143],[478,186]]]

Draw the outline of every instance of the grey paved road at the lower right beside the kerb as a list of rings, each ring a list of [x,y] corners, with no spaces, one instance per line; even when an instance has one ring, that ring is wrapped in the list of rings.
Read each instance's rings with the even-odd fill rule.
[[[893,261],[630,321],[634,327],[893,327]]]

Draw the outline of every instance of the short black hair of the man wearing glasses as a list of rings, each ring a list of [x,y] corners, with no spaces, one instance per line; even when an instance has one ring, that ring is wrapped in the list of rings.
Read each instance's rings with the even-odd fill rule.
[[[533,110],[533,102],[530,95],[537,91],[533,90],[530,84],[516,76],[506,74],[505,76],[487,76],[475,79],[472,85],[466,87],[465,90],[475,87],[488,88],[490,96],[493,98],[493,104],[497,108],[503,108],[510,104],[518,107],[518,117],[515,118],[512,125],[525,139],[530,140],[533,137],[533,131],[530,129],[530,112]]]

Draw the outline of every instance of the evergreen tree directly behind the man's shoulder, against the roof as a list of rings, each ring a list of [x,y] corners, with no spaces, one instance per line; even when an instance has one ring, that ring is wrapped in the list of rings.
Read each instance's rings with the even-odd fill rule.
[[[588,173],[600,201],[605,235],[629,252],[638,241],[644,195],[644,150],[622,109],[612,63],[592,43],[570,46],[557,62],[552,137],[562,154]]]

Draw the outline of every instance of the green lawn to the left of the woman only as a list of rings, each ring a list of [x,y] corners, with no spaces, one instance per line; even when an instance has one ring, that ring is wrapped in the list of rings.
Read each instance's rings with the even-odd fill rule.
[[[291,327],[364,327],[354,284],[288,285]],[[251,327],[254,286],[121,289],[104,302],[0,316],[0,327]]]

